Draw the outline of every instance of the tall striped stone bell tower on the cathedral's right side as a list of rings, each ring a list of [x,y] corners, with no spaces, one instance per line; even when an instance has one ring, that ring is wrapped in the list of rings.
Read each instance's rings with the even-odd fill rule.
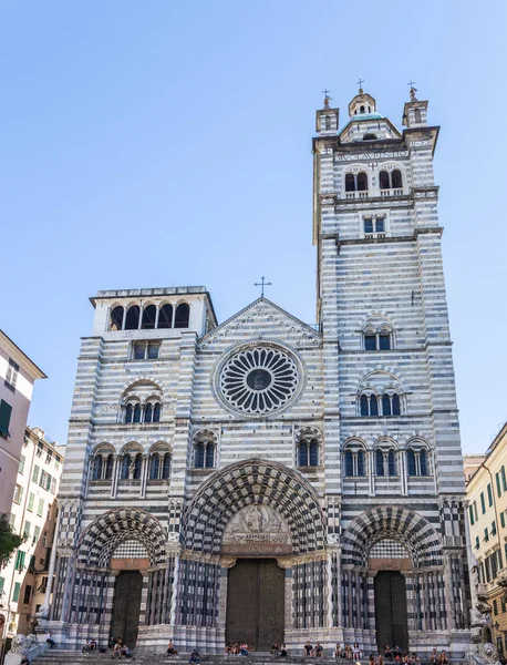
[[[313,242],[329,377],[324,438],[340,441],[332,451],[327,447],[327,492],[328,502],[334,495],[340,504],[341,625],[352,641],[358,625],[375,617],[379,636],[385,608],[375,605],[377,592],[405,589],[408,642],[420,653],[442,631],[449,631],[448,645],[466,642],[468,605],[465,490],[433,174],[438,127],[427,124],[427,102],[415,93],[412,88],[403,132],[362,89],[342,129],[327,130],[337,126],[339,109],[324,100],[313,140]],[[403,528],[407,512],[438,532],[441,542],[425,554],[416,553],[417,539]],[[387,628],[383,642],[392,643]]]

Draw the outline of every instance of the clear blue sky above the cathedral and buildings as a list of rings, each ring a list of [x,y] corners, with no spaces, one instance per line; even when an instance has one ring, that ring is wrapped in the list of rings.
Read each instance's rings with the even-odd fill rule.
[[[359,76],[435,172],[463,447],[506,420],[507,3],[0,3],[0,327],[49,375],[30,423],[66,438],[89,296],[205,285],[220,320],[268,296],[314,320],[311,136]]]

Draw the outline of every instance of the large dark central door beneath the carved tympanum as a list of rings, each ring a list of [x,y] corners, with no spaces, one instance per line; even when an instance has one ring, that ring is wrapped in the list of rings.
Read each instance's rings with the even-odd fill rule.
[[[270,651],[283,642],[284,572],[276,559],[238,559],[227,584],[226,642]]]

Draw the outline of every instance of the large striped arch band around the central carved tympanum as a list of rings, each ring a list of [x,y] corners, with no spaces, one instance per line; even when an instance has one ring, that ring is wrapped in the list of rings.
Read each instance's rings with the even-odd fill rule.
[[[294,554],[324,548],[324,519],[313,488],[298,472],[259,458],[230,464],[199,488],[183,519],[184,546],[218,554],[227,522],[255,503],[280,512],[291,531]]]

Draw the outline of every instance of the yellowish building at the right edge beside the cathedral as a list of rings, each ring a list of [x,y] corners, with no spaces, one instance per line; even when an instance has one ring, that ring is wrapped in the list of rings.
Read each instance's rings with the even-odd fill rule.
[[[466,487],[472,552],[492,606],[492,638],[507,654],[507,422]]]

